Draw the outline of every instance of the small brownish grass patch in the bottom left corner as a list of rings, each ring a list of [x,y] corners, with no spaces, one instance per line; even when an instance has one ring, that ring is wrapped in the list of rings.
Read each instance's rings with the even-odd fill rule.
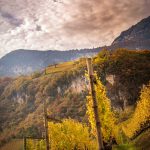
[[[23,140],[12,140],[1,147],[0,150],[23,150]]]

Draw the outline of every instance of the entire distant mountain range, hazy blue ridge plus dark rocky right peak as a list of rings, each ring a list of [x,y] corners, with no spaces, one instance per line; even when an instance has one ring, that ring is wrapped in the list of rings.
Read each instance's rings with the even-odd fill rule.
[[[101,49],[114,50],[150,49],[150,17],[147,17],[123,31],[110,46],[93,49],[69,50],[69,51],[37,51],[15,50],[0,59],[0,76],[18,76],[41,71],[50,64],[58,64],[80,57],[93,56]]]

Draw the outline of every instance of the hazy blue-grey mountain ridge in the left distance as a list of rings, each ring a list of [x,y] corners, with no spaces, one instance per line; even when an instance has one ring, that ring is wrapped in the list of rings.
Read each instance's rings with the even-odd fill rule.
[[[70,51],[15,50],[0,59],[0,76],[26,75],[80,57],[93,56],[100,48]]]

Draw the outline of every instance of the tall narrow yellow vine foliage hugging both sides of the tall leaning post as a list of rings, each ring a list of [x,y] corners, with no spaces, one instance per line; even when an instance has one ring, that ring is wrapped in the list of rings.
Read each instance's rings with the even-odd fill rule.
[[[101,121],[102,136],[105,141],[114,137],[115,116],[111,110],[110,100],[106,96],[106,89],[95,74],[96,99],[98,103],[98,112]],[[96,136],[95,118],[93,112],[93,102],[91,95],[87,97],[87,115],[92,128],[92,133]]]

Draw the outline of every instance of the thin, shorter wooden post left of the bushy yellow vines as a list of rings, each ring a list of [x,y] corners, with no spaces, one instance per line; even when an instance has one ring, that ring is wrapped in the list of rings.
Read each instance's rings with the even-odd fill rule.
[[[48,134],[48,120],[47,120],[47,106],[44,100],[44,119],[45,119],[45,139],[46,139],[46,150],[50,150],[49,134]]]

